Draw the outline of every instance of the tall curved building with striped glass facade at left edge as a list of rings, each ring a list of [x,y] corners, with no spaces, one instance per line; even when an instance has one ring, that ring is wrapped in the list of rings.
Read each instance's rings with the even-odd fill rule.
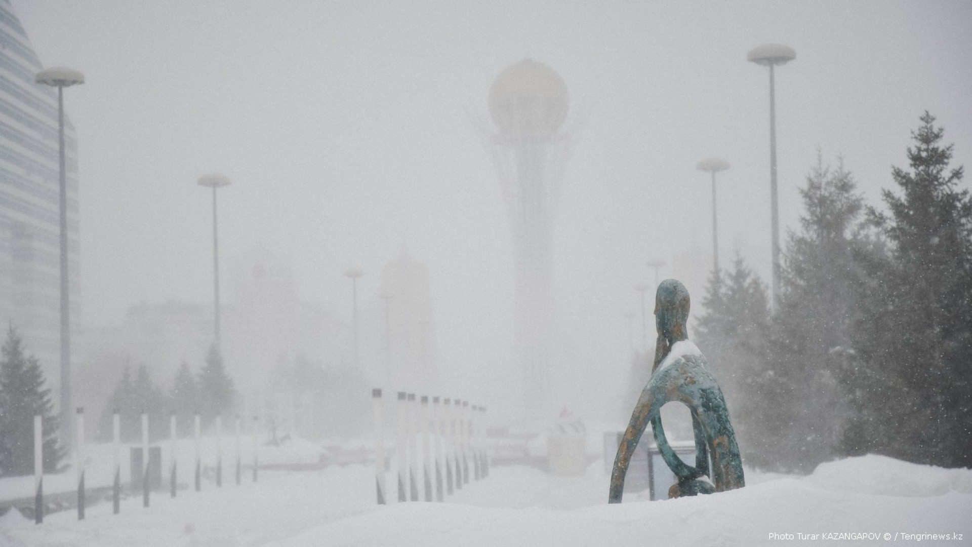
[[[0,0],[0,320],[5,329],[17,328],[27,352],[40,359],[48,386],[55,386],[60,378],[57,91],[34,82],[43,68],[9,0]],[[71,332],[80,333],[78,141],[66,116],[64,144]]]

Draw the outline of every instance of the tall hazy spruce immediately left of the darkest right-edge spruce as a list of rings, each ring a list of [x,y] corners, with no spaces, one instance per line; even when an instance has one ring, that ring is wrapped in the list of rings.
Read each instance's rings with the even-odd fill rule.
[[[788,424],[781,435],[790,451],[780,455],[784,467],[810,472],[840,455],[852,413],[841,380],[859,313],[857,257],[867,240],[863,198],[842,160],[831,169],[818,152],[800,194],[801,231],[787,241],[768,358],[792,390],[783,409]]]

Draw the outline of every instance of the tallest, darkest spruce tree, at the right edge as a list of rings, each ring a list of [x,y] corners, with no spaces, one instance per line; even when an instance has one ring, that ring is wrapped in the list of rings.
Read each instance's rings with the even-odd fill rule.
[[[893,436],[890,456],[972,466],[972,199],[950,168],[953,146],[925,112],[912,131],[911,170],[893,167],[900,194],[870,210],[891,246],[861,324],[862,359],[882,367],[886,393],[873,397]]]

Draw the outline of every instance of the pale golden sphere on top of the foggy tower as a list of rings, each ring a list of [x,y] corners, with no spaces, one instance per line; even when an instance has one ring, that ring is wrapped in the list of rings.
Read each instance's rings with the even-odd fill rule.
[[[549,66],[531,58],[506,67],[489,91],[489,111],[510,138],[549,138],[567,118],[567,86]]]

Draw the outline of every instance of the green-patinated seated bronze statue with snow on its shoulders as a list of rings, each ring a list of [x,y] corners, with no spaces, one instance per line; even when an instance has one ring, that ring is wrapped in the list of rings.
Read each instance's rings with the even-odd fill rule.
[[[688,290],[684,285],[676,279],[666,279],[658,285],[655,297],[658,341],[654,366],[651,378],[631,414],[621,445],[617,448],[610,476],[608,503],[621,502],[628,464],[649,421],[658,451],[678,479],[677,484],[669,490],[671,497],[723,492],[746,486],[743,461],[739,456],[739,446],[732,423],[729,422],[722,390],[709,372],[702,352],[688,340],[685,327],[688,310]],[[692,416],[694,466],[687,465],[676,456],[665,438],[659,413],[669,401],[683,403]]]

